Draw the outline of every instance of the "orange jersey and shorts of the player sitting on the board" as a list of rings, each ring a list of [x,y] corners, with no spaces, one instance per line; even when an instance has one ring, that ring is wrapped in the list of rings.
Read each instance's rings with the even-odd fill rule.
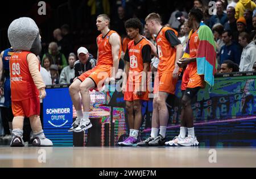
[[[94,81],[95,88],[103,86],[106,78],[110,77],[110,70],[113,66],[112,46],[109,43],[110,36],[116,33],[115,31],[109,31],[104,37],[99,35],[97,37],[98,45],[98,61],[95,68],[81,74],[79,76],[80,81],[84,81],[85,78],[91,78]],[[119,36],[120,42],[121,37]],[[121,57],[122,48],[119,49],[118,59]]]

